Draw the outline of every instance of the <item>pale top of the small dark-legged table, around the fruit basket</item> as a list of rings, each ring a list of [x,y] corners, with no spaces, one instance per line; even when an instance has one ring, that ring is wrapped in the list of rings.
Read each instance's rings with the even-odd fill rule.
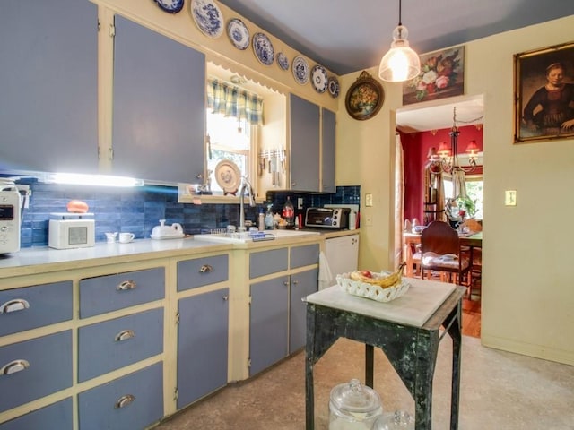
[[[406,294],[387,303],[352,296],[338,285],[313,293],[305,300],[316,305],[372,316],[379,320],[422,327],[457,288],[456,285],[445,282],[414,278],[406,280],[411,284]]]

